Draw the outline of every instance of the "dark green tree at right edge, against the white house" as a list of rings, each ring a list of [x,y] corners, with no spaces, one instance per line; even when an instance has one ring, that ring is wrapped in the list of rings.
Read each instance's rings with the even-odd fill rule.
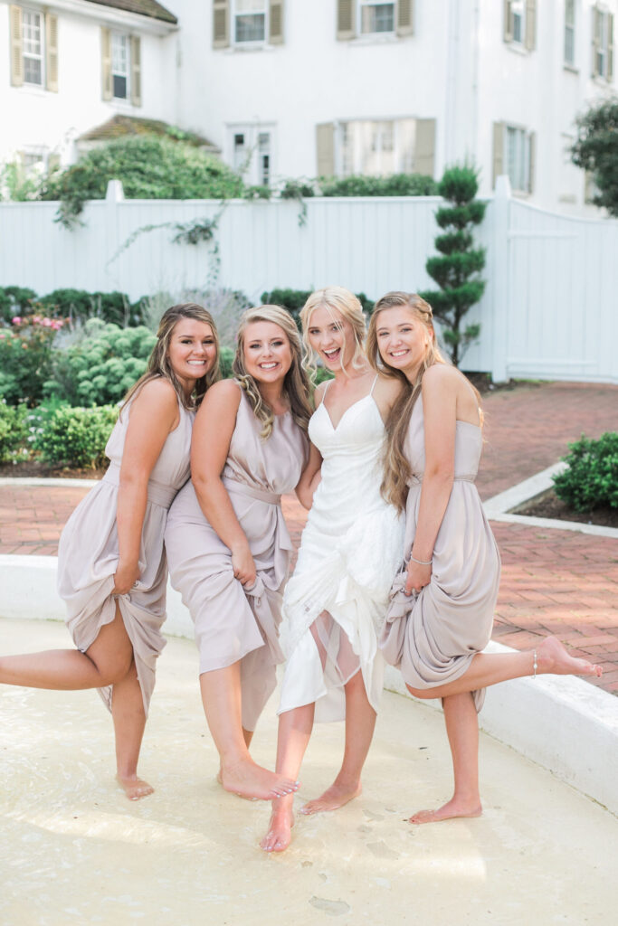
[[[618,216],[618,96],[592,106],[576,124],[571,160],[592,174],[599,191],[592,200],[595,206]]]

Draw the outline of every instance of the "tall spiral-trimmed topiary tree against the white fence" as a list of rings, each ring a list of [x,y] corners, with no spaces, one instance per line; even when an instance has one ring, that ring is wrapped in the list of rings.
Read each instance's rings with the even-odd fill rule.
[[[485,267],[485,248],[474,247],[473,228],[485,216],[486,203],[474,199],[478,192],[476,170],[448,168],[438,184],[438,193],[448,201],[440,206],[435,220],[444,234],[435,239],[441,257],[429,257],[427,273],[440,287],[421,295],[434,309],[450,358],[456,367],[466,348],[478,338],[481,326],[463,327],[463,318],[485,291],[479,274]]]

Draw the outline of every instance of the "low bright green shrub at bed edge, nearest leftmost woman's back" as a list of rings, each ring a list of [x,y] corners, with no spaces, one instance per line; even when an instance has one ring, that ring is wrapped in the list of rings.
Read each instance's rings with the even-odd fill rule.
[[[34,448],[53,466],[103,466],[105,446],[118,418],[118,407],[56,408],[44,418]]]

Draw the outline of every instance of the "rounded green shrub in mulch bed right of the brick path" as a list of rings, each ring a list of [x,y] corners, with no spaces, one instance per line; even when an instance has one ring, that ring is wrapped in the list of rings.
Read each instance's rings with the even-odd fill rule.
[[[563,502],[575,511],[618,508],[618,433],[605,432],[599,440],[582,434],[562,459],[567,469],[553,481]]]

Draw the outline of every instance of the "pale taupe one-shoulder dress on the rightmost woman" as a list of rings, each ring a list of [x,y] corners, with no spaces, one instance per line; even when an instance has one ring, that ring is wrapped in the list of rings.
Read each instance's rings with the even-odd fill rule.
[[[386,661],[412,688],[454,682],[470,668],[491,638],[500,581],[498,545],[474,485],[483,449],[482,432],[457,421],[455,480],[434,547],[431,582],[405,594],[406,571],[393,583],[380,637]],[[414,542],[425,469],[423,396],[410,415],[405,444],[412,478],[406,506],[405,557]],[[479,711],[485,689],[473,692]]]

